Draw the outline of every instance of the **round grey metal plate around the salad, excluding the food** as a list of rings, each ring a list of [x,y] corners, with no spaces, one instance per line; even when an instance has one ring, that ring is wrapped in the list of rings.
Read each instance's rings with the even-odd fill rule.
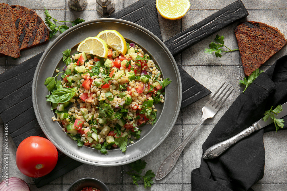
[[[164,104],[156,105],[158,121],[155,125],[141,127],[141,138],[128,145],[125,152],[108,150],[104,155],[91,147],[77,147],[62,130],[62,125],[52,121],[55,116],[45,96],[49,93],[44,86],[47,77],[55,75],[56,68],[62,68],[62,52],[75,47],[85,38],[96,36],[100,31],[114,29],[124,38],[143,47],[158,64],[164,78],[172,83],[166,87]],[[71,51],[73,53],[73,50]],[[175,124],[181,106],[181,80],[177,64],[169,50],[147,29],[121,19],[95,19],[68,29],[46,49],[36,68],[32,86],[33,105],[37,120],[48,139],[65,155],[85,164],[96,166],[118,166],[138,160],[153,151],[166,138]]]

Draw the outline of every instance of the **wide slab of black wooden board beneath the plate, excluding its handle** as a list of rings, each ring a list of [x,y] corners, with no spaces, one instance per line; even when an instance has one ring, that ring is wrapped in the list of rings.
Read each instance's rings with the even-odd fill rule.
[[[232,9],[232,7],[229,8]],[[222,17],[224,16],[226,15],[222,15]],[[129,7],[115,13],[113,18],[121,18],[135,22],[152,31],[158,38],[162,39],[154,0],[137,1]],[[238,16],[238,18],[234,19],[240,18]],[[226,25],[229,23],[230,22],[225,22]],[[188,45],[188,42],[186,44]],[[9,124],[9,133],[17,147],[22,140],[29,136],[45,137],[37,122],[32,105],[32,80],[42,54],[43,53],[40,53],[0,74],[0,89],[3,90],[0,92],[0,117],[4,123]],[[180,66],[179,72],[181,74],[182,84],[184,84],[181,109],[211,93]],[[39,188],[63,176],[81,164],[82,163],[67,157],[59,151],[59,160],[55,169],[50,174],[40,178],[34,178],[33,180]]]

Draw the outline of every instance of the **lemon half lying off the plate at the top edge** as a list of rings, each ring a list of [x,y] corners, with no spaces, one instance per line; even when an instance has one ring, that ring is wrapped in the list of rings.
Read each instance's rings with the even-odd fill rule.
[[[189,7],[189,0],[156,0],[156,9],[165,19],[181,19]]]

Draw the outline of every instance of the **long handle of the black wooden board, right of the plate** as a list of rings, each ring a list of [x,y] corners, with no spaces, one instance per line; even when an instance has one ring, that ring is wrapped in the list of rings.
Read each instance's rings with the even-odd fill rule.
[[[230,5],[227,5],[209,17],[168,39],[164,44],[172,55],[176,55],[247,15],[248,12],[242,1],[234,1]]]

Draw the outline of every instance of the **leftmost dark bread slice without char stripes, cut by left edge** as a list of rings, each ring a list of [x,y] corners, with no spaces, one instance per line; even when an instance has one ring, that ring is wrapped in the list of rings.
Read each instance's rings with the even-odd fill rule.
[[[20,49],[13,20],[11,7],[5,3],[0,3],[0,54],[19,58]]]

